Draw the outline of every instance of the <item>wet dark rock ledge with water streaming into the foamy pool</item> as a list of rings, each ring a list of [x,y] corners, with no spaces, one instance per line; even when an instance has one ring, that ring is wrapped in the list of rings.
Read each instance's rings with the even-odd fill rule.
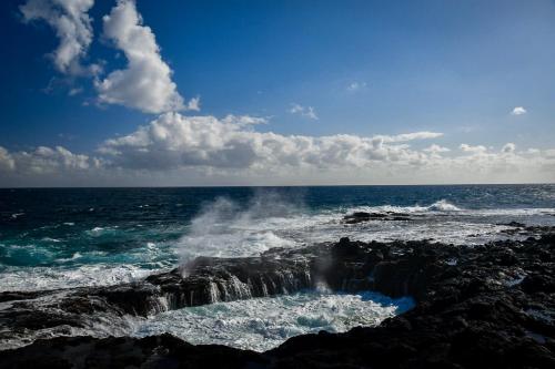
[[[311,252],[313,249],[314,252]],[[320,257],[329,247],[275,250],[261,257],[200,257],[182,269],[144,280],[105,287],[41,293],[0,293],[0,344],[67,335],[72,328],[94,329],[110,321],[124,334],[125,315],[147,317],[161,311],[216,301],[290,294],[314,287]],[[53,329],[53,330],[52,330]],[[11,344],[10,344],[11,345]]]

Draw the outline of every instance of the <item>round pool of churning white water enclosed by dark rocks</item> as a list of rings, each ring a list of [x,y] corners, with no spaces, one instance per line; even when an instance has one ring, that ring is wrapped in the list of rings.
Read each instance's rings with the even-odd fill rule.
[[[391,299],[375,293],[310,291],[168,311],[138,322],[131,335],[170,332],[195,345],[265,351],[293,336],[377,326],[413,306],[411,298]]]

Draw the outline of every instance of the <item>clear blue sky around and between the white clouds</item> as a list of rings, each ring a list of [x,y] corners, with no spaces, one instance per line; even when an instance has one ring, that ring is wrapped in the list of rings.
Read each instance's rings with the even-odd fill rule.
[[[113,153],[107,154],[105,150],[99,151],[107,140],[133,135],[139,126],[149,126],[160,119],[160,114],[170,111],[185,117],[222,120],[229,114],[262,117],[264,124],[248,129],[238,122],[230,124],[283,137],[317,140],[346,134],[372,139],[415,132],[440,133],[432,141],[411,139],[394,147],[406,150],[397,146],[410,145],[408,156],[414,157],[418,153],[424,155],[422,150],[432,144],[450,150],[433,153],[446,157],[444,162],[435,157],[430,158],[435,160],[433,165],[427,165],[427,168],[445,165],[453,173],[432,175],[425,182],[554,178],[541,173],[554,168],[551,150],[555,147],[555,1],[164,1],[163,6],[147,0],[120,1],[142,16],[140,28],[150,27],[161,50],[160,59],[172,71],[171,81],[165,82],[175,84],[174,95],[181,96],[185,105],[191,99],[200,98],[200,111],[164,107],[150,112],[138,102],[114,103],[108,101],[110,98],[102,98],[99,81],[109,80],[115,70],[124,70],[128,54],[114,45],[117,35],[107,37],[102,19],[111,13],[117,1],[83,1],[90,2],[83,14],[90,20],[91,40],[78,63],[101,65],[101,72],[74,73],[57,68],[52,57],[60,43],[56,24],[44,17],[28,19],[21,8],[30,2],[42,10],[49,9],[49,14],[63,14],[68,10],[65,1],[4,1],[0,4],[4,8],[0,12],[0,38],[4,49],[0,69],[3,81],[0,147],[14,163],[4,165],[11,173],[4,176],[6,185],[34,185],[46,177],[54,185],[73,184],[74,180],[68,183],[60,180],[72,177],[67,173],[48,170],[41,174],[24,168],[29,160],[18,157],[21,153],[32,155],[40,146],[61,146],[72,154],[85,155],[87,160],[100,160],[102,173],[92,173],[88,167],[88,174],[77,175],[91,184],[118,185],[118,181],[125,184],[131,180],[123,177],[135,181],[138,175],[144,184],[240,183],[220,162],[199,164],[195,158],[175,163],[163,170],[172,171],[169,175],[161,174],[162,170],[152,172],[152,167],[129,164],[130,157],[137,160],[137,155],[130,153],[128,146],[127,152],[118,146],[119,157],[130,154],[124,161],[115,158],[118,155]],[[112,92],[104,90],[105,94]],[[515,107],[522,107],[515,111],[521,114],[512,113]],[[179,150],[189,153],[206,148],[193,147],[185,141],[180,142]],[[236,146],[234,141],[230,142],[226,145]],[[518,161],[508,161],[508,168],[506,157],[491,157],[493,152],[502,152],[507,143],[514,145],[511,150],[514,155],[518,156],[522,151],[535,155],[534,161],[542,161],[537,164],[537,173],[519,167],[519,176],[511,174],[514,167],[532,160],[524,154]],[[486,151],[465,151],[463,144],[484,146]],[[316,144],[319,153],[321,145],[325,144]],[[345,160],[361,152],[359,146],[353,147]],[[161,148],[143,146],[141,152],[145,150],[152,153]],[[169,148],[167,145],[164,150],[172,155],[175,152],[174,146]],[[218,154],[213,146],[206,150],[219,160],[225,153],[221,147]],[[135,151],[133,146],[133,153]],[[253,148],[248,151],[253,152]],[[490,164],[480,167],[481,175],[457,181],[456,171],[463,164],[457,162],[455,165],[453,161],[468,156],[461,151],[490,155]],[[427,151],[431,152],[433,150]],[[244,156],[244,152],[241,155]],[[261,161],[259,151],[252,155],[255,160],[246,161],[241,167],[244,171],[242,178],[250,178],[245,184],[291,182],[286,174],[273,177],[275,157]],[[347,163],[356,173],[361,168],[367,172],[366,176],[353,182],[406,182],[404,176],[380,172],[383,172],[381,164],[387,167],[395,160],[389,164],[374,163],[376,158],[370,160],[372,155],[369,155],[365,152],[362,158],[357,156]],[[414,162],[413,156],[400,164],[401,172],[406,171],[404,165],[412,165],[408,162]],[[168,162],[168,157],[157,158]],[[133,163],[142,160],[145,158]],[[17,168],[18,161],[21,170]],[[226,163],[230,161],[225,158]],[[493,165],[495,161],[505,168],[501,164]],[[286,164],[302,167],[301,172],[311,165],[314,173],[329,172],[305,178],[310,183],[329,183],[345,171],[341,163],[335,163],[339,172],[322,163],[325,163],[322,157],[315,164],[303,156],[295,160],[295,164]],[[468,163],[464,165],[471,165]],[[99,180],[115,170],[118,173],[141,170],[142,174],[121,174],[114,183]],[[168,176],[173,180],[149,182],[151,180],[143,177],[145,170],[152,172],[149,178]],[[273,174],[264,174],[263,170]],[[500,171],[505,171],[507,176],[500,176]],[[56,180],[57,176],[60,178]],[[196,180],[189,183],[191,177]],[[293,181],[292,184],[297,183]]]

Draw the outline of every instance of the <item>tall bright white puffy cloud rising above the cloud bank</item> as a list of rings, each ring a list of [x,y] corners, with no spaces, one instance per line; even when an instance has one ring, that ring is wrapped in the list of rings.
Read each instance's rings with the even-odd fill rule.
[[[123,51],[128,65],[95,82],[100,102],[145,113],[200,109],[199,98],[183,102],[171,79],[172,70],[162,60],[154,33],[143,25],[134,0],[118,0],[103,17],[103,35]]]

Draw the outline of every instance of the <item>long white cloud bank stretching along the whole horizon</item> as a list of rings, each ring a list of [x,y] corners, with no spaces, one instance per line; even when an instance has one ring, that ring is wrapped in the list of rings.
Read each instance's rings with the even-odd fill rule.
[[[554,150],[498,150],[461,144],[414,148],[441,133],[329,136],[259,132],[255,116],[185,116],[164,113],[134,132],[104,141],[94,156],[57,146],[9,152],[0,147],[0,185],[33,185],[44,177],[85,183],[192,184],[379,184],[549,182]],[[462,176],[464,174],[464,176]],[[112,180],[110,180],[112,178]],[[11,181],[11,182],[10,182]],[[94,182],[97,181],[97,182]],[[114,182],[110,182],[114,181]]]

